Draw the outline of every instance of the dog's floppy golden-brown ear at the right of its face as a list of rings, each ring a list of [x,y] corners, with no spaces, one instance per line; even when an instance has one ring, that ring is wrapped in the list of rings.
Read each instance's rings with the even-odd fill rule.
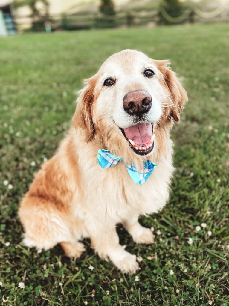
[[[169,89],[170,99],[173,102],[172,110],[170,116],[173,117],[175,121],[180,120],[179,111],[184,107],[185,102],[187,102],[187,92],[181,86],[176,73],[170,69],[170,63],[168,60],[165,61],[155,61],[158,69],[163,74],[163,82],[165,86]]]

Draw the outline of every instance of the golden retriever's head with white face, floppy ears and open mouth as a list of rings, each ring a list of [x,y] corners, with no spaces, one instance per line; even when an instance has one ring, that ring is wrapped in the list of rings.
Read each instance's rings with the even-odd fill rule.
[[[169,130],[186,101],[168,61],[123,50],[85,81],[73,126],[87,141],[95,138],[102,148],[136,163],[166,152]]]

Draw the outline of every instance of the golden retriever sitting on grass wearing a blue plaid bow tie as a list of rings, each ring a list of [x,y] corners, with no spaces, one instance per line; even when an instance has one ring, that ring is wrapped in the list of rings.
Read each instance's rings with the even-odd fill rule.
[[[134,273],[136,256],[119,244],[116,225],[138,244],[154,242],[138,218],[169,198],[170,130],[187,93],[169,61],[122,50],[85,80],[77,101],[72,128],[20,204],[23,243],[45,250],[60,244],[80,257],[87,237],[101,258]]]

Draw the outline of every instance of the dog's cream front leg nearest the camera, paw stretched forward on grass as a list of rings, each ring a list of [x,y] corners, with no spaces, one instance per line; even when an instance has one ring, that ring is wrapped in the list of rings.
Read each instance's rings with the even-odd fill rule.
[[[118,269],[126,273],[134,273],[138,269],[136,256],[126,252],[119,244],[118,234],[115,227],[103,226],[100,230],[93,230],[91,244],[101,258],[109,259]]]

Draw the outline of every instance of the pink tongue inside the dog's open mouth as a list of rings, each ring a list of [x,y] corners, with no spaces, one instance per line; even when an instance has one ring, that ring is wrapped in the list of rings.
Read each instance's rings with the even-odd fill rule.
[[[136,144],[147,144],[153,136],[151,123],[142,122],[124,129],[125,136]]]

